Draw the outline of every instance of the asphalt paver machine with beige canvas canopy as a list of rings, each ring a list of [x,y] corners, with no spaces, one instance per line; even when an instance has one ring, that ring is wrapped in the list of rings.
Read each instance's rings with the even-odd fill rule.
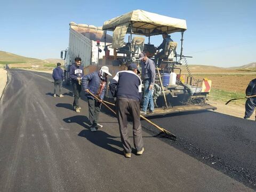
[[[119,63],[120,66],[126,67],[131,62],[137,62],[140,65],[138,56],[141,51],[145,52],[148,58],[155,59],[156,47],[150,43],[151,36],[162,36],[163,33],[181,34],[180,53],[176,50],[177,42],[166,42],[164,46],[161,65],[156,67],[155,110],[154,113],[146,116],[217,109],[206,103],[206,95],[211,90],[211,81],[206,78],[194,78],[188,68],[187,57],[183,55],[183,35],[187,30],[186,20],[134,10],[105,21],[102,30],[105,36],[109,31],[113,33],[111,48],[114,49],[114,55],[110,57],[113,58],[113,65]],[[129,35],[127,43],[124,42],[126,35]],[[147,43],[145,43],[145,37],[148,39]],[[123,56],[117,57],[117,54]],[[185,79],[181,78],[181,65],[187,67],[188,76]],[[113,100],[108,91],[106,99]]]

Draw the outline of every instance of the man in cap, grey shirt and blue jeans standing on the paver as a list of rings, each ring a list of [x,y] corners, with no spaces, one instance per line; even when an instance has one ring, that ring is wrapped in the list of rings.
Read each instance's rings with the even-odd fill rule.
[[[141,110],[142,115],[147,114],[147,108],[149,105],[149,112],[154,113],[154,101],[153,101],[153,87],[156,78],[155,63],[149,59],[146,53],[141,52],[139,54],[139,60],[141,61],[141,77],[144,85],[143,92],[143,106]]]

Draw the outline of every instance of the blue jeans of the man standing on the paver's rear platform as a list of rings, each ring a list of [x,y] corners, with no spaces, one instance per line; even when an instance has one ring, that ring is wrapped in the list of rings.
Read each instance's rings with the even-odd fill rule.
[[[150,80],[143,81],[144,85],[144,101],[142,106],[142,111],[146,111],[149,104],[149,110],[154,111],[154,102],[153,102],[153,89],[149,90]]]

